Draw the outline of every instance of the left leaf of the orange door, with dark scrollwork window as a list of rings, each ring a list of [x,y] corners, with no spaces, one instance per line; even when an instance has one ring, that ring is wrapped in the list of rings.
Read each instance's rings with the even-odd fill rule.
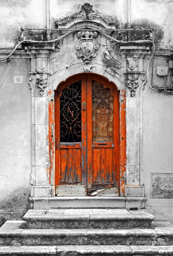
[[[84,76],[62,83],[56,95],[56,185],[85,184],[86,164],[86,113],[82,102],[86,101]],[[85,164],[84,164],[85,163]]]

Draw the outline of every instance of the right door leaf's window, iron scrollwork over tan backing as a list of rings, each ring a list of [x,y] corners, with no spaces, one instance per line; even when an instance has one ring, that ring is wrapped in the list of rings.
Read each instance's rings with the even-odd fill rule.
[[[113,96],[97,81],[92,87],[92,121],[93,141],[113,141]]]

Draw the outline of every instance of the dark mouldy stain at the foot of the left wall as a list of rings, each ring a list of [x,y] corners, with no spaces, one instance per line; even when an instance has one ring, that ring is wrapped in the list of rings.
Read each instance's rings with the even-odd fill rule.
[[[8,198],[0,201],[0,227],[7,220],[20,220],[29,209],[30,187],[14,190]]]

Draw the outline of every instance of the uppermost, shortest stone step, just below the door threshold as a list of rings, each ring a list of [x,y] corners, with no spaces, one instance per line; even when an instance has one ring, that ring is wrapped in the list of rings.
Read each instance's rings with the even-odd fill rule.
[[[29,229],[129,229],[150,228],[154,216],[142,209],[49,209],[28,210],[23,219]]]

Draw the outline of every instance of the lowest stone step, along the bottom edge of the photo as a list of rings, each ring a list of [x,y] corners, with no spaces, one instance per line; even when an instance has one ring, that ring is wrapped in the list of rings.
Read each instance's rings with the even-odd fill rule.
[[[2,246],[2,256],[172,256],[173,246],[148,245],[60,245],[60,246]]]

